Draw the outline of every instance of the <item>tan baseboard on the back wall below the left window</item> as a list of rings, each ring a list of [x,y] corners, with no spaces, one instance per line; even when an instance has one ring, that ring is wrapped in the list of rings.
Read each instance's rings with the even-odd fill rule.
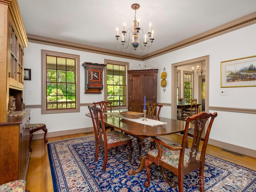
[[[94,132],[93,127],[66,130],[66,131],[48,132],[46,135],[46,138],[72,135],[72,134],[78,134],[78,133],[88,133],[88,132]],[[43,139],[43,138],[44,138],[44,133],[38,133],[33,135],[32,140]]]

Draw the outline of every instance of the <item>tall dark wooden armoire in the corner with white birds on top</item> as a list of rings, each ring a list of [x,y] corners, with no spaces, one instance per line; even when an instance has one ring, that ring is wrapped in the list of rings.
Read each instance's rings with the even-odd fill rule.
[[[128,110],[142,112],[146,103],[155,102],[158,69],[128,71]]]

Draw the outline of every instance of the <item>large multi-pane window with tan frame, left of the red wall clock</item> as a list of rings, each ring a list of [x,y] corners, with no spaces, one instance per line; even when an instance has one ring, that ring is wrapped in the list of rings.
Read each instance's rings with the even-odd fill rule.
[[[42,114],[79,112],[79,56],[42,50]]]

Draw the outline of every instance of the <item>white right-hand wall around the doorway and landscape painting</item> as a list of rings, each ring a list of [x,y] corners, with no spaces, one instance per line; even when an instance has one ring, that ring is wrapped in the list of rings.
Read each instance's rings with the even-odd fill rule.
[[[209,63],[209,106],[256,109],[256,87],[226,88],[227,95],[220,95],[220,62],[256,55],[256,24],[188,46],[181,50],[147,60],[148,66],[156,64],[158,78],[166,67],[167,86],[163,92],[159,86],[158,102],[171,102],[171,65],[173,63],[210,55]],[[161,110],[160,116],[170,117],[171,109]],[[214,112],[214,111],[210,111]],[[218,111],[210,138],[236,146],[256,150],[255,114]]]

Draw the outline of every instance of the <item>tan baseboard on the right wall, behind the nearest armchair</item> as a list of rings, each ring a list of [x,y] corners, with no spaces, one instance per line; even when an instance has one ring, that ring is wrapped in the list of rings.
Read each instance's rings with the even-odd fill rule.
[[[256,158],[256,150],[253,149],[240,147],[237,145],[217,141],[214,139],[209,139],[208,144]]]

